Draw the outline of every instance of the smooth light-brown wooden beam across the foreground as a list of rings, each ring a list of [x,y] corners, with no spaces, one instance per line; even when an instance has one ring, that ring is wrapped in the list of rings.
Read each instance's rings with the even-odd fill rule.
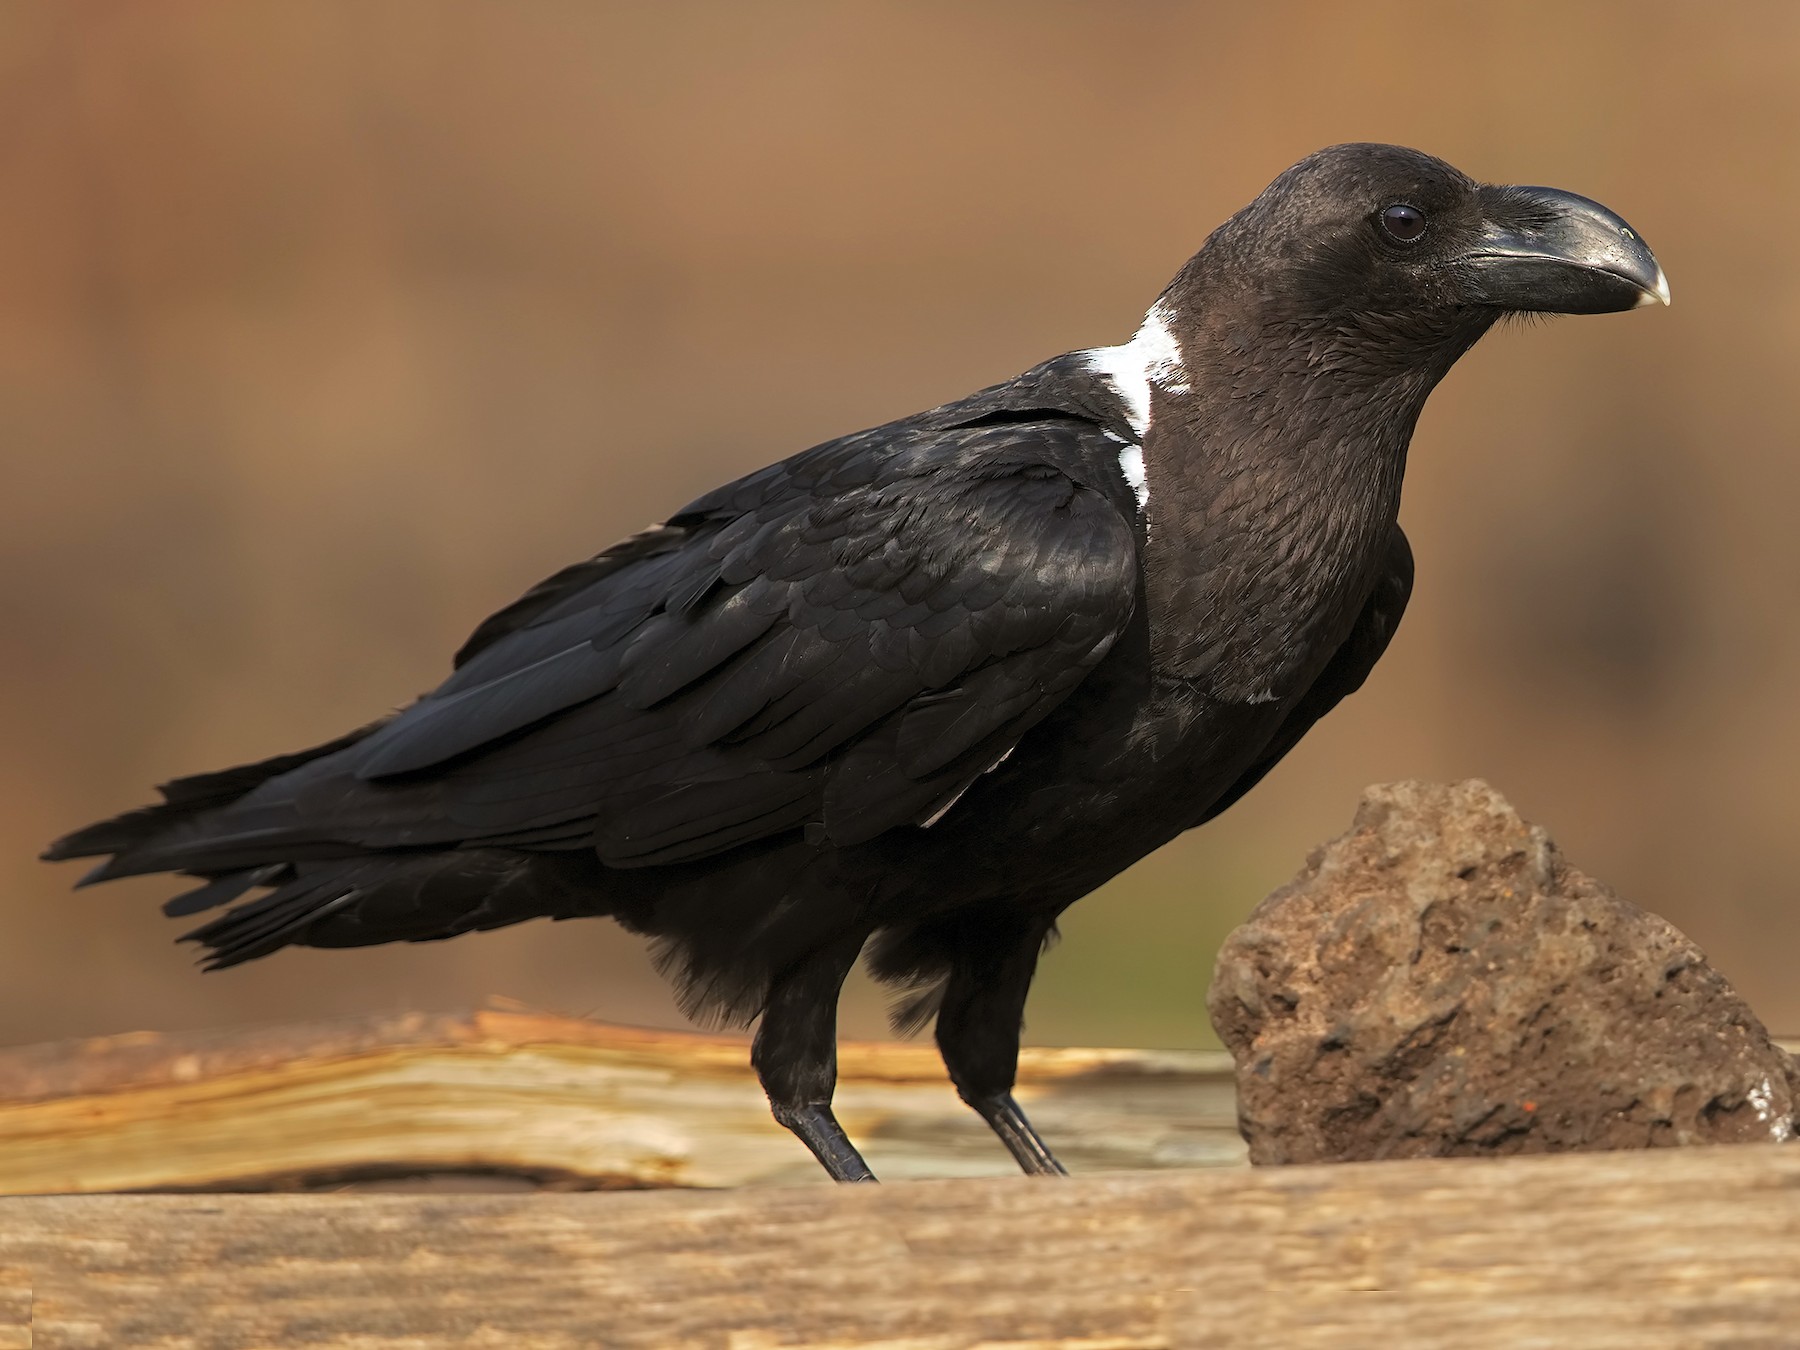
[[[1800,1345],[1800,1148],[736,1193],[0,1201],[38,1345]]]

